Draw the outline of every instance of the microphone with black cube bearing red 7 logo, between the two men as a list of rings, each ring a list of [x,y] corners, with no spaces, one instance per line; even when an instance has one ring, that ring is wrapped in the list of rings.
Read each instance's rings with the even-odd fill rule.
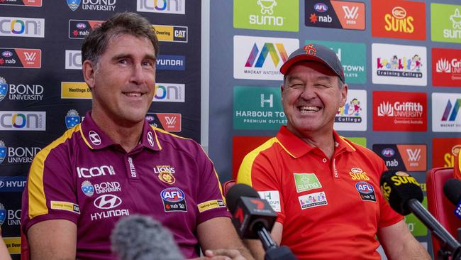
[[[296,259],[287,246],[278,247],[270,236],[268,230],[274,227],[277,213],[272,210],[267,200],[260,199],[255,189],[243,183],[235,184],[228,190],[226,202],[240,238],[259,238],[266,252],[266,260]]]

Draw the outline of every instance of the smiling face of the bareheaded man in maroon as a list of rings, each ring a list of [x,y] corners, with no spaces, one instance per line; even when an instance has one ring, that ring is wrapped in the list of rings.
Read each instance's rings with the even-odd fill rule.
[[[84,62],[94,119],[117,124],[144,120],[155,94],[155,50],[148,38],[129,34],[109,40],[98,65]]]

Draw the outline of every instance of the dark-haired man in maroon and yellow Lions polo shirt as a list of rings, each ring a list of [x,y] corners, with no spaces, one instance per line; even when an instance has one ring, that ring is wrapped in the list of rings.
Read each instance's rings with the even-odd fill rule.
[[[35,156],[23,193],[32,259],[115,259],[111,230],[135,213],[169,228],[186,258],[199,247],[211,259],[251,258],[199,144],[145,120],[157,50],[151,24],[136,13],[117,13],[85,38],[91,112]]]

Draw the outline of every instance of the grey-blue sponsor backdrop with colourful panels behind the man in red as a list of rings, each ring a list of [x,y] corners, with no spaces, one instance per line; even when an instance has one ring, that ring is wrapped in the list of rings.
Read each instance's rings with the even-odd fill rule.
[[[461,148],[461,4],[438,2],[211,1],[209,153],[221,181],[287,123],[279,67],[321,43],[349,85],[335,129],[426,192],[426,170],[452,167]],[[413,215],[406,222],[432,251],[426,227]]]

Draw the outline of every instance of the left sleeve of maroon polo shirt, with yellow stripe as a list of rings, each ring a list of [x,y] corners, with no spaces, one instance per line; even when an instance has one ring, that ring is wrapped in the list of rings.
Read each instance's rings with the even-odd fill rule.
[[[21,226],[44,220],[64,219],[77,222],[80,211],[67,148],[56,141],[43,148],[30,166],[23,191]]]

